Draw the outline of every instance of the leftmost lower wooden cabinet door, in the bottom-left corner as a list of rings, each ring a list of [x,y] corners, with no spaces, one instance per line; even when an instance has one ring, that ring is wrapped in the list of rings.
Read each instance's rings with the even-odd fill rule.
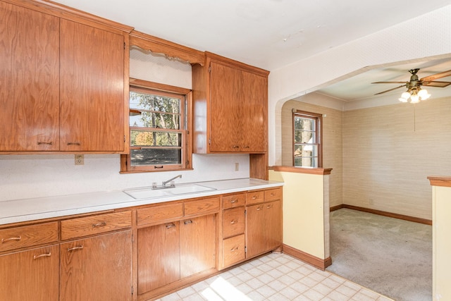
[[[58,300],[58,245],[0,255],[0,300]]]

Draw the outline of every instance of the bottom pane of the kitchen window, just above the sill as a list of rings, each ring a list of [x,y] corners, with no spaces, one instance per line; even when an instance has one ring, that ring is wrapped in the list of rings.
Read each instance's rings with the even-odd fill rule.
[[[130,149],[132,166],[181,164],[181,149]]]

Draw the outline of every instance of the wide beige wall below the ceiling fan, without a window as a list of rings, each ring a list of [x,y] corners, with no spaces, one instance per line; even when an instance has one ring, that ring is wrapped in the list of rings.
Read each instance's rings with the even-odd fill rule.
[[[344,112],[343,203],[432,219],[426,177],[450,170],[451,97]]]

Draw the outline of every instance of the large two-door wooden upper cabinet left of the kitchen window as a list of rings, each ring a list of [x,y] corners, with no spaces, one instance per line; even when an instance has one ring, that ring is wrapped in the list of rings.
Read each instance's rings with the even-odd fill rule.
[[[128,151],[128,33],[52,15],[0,1],[0,152]]]

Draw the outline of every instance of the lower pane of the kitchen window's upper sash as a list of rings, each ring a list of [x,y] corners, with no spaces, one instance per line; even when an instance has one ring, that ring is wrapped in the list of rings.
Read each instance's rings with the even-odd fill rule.
[[[130,126],[179,130],[180,115],[141,111],[140,115],[130,116]]]

